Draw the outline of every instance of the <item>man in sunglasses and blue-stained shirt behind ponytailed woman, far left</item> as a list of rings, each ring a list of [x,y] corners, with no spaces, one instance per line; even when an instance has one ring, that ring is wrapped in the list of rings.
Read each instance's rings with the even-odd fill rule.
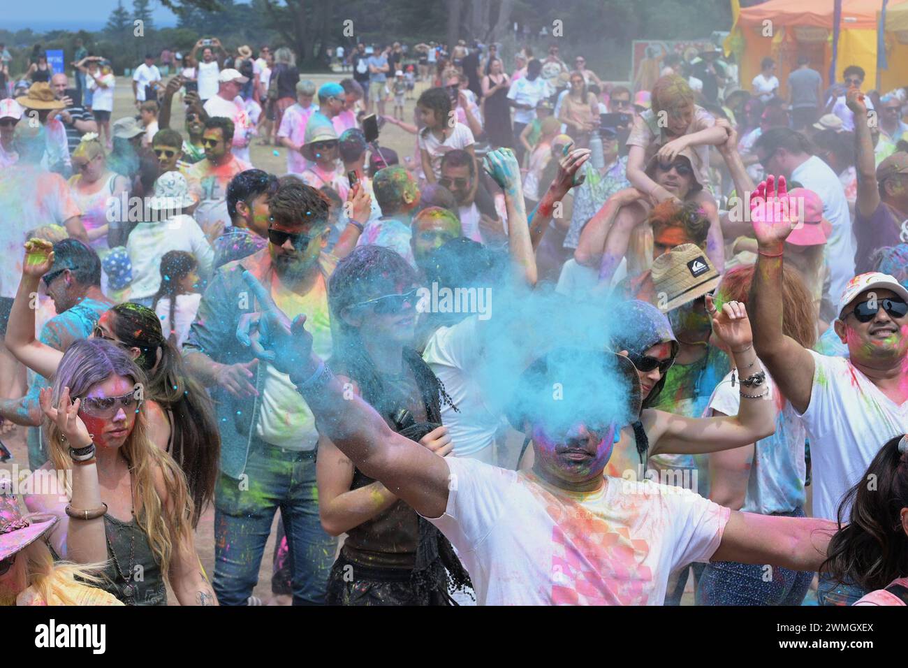
[[[92,248],[75,239],[64,239],[54,244],[54,262],[46,257],[50,244],[41,242],[44,252],[29,253],[31,261],[24,263],[20,291],[39,293],[39,286],[53,300],[56,315],[44,324],[38,342],[65,352],[74,341],[88,338],[94,325],[107,309],[114,305],[101,292],[101,261]],[[41,256],[44,258],[39,259]],[[49,387],[43,375],[35,380],[25,396],[0,399],[0,416],[15,424],[39,427],[43,421],[38,396],[42,388]],[[28,430],[28,464],[35,469],[47,460],[40,429]]]

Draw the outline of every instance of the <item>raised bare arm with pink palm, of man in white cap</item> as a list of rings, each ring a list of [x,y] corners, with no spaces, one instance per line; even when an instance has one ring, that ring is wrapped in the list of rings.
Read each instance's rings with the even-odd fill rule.
[[[754,348],[785,398],[798,413],[810,404],[814,384],[814,357],[782,331],[782,253],[785,239],[797,219],[795,202],[788,198],[785,177],[769,176],[751,197],[751,220],[759,250],[750,287]],[[792,212],[789,214],[789,212]]]

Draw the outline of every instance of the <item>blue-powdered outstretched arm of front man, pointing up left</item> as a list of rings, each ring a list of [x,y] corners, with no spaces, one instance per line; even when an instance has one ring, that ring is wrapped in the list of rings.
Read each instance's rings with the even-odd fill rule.
[[[271,294],[252,274],[243,280],[262,312],[244,315],[237,337],[257,357],[289,374],[319,427],[360,471],[380,481],[391,493],[427,517],[439,517],[448,506],[448,464],[442,457],[395,434],[381,416],[359,397],[345,397],[343,385],[312,353],[306,316],[291,324]]]

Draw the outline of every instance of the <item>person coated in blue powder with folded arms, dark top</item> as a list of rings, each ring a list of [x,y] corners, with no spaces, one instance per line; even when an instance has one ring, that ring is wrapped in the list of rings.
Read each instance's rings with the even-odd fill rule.
[[[394,251],[356,248],[331,274],[331,368],[374,406],[390,429],[438,454],[454,444],[441,424],[451,400],[413,349],[419,276]],[[450,543],[385,485],[319,437],[319,511],[331,535],[346,533],[331,568],[330,605],[448,605],[448,574],[469,577]],[[345,577],[352,568],[353,577]]]

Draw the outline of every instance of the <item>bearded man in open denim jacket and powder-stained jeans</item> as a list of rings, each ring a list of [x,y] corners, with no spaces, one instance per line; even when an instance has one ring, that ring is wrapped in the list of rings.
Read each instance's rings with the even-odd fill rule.
[[[319,522],[318,433],[311,411],[288,376],[254,359],[236,336],[244,315],[256,308],[242,280],[248,271],[270,286],[281,309],[307,314],[315,349],[331,354],[327,285],[337,261],[322,252],[330,202],[287,178],[268,206],[268,247],[215,272],[184,344],[192,372],[212,387],[222,425],[214,518],[214,589],[222,605],[244,605],[252,595],[278,508],[293,564],[294,603],[324,602],[334,560],[334,540]]]

